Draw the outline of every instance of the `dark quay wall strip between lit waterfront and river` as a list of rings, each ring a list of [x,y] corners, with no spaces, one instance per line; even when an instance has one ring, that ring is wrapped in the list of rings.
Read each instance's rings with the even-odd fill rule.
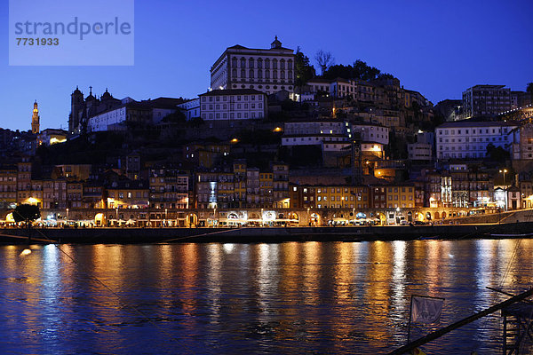
[[[283,241],[412,241],[419,239],[529,238],[533,222],[502,225],[405,225],[248,228],[4,229],[2,244],[129,244],[171,242],[278,243]]]

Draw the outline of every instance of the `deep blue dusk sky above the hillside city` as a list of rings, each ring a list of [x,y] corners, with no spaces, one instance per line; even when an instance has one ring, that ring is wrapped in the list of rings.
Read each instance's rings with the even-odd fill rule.
[[[533,82],[533,1],[136,1],[132,67],[10,67],[8,27],[0,30],[0,127],[30,129],[34,100],[41,129],[68,127],[76,85],[117,99],[195,98],[228,46],[284,47],[337,64],[362,59],[398,77],[434,104],[475,84],[525,91]],[[8,1],[0,4],[8,21]],[[105,53],[101,53],[102,56]],[[319,71],[319,70],[318,70]]]

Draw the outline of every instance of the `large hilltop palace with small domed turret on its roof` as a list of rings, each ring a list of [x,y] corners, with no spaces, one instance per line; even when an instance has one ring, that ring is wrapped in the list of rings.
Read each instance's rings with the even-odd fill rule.
[[[271,94],[294,92],[294,51],[277,36],[270,49],[229,47],[211,67],[211,90],[254,89]]]

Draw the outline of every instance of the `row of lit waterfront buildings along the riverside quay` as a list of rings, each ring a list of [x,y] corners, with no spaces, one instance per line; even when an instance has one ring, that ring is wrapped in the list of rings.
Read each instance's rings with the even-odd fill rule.
[[[53,167],[48,178],[32,177],[31,162],[0,169],[0,204],[36,204],[43,209],[416,209],[531,208],[531,181],[492,170],[450,164],[423,170],[397,183],[366,176],[361,184],[300,183],[289,166],[268,170],[234,160],[226,170],[147,168],[147,178],[124,171],[95,172],[88,164]],[[35,174],[34,174],[35,175]],[[141,175],[145,175],[144,173]],[[502,199],[502,193],[504,198]]]

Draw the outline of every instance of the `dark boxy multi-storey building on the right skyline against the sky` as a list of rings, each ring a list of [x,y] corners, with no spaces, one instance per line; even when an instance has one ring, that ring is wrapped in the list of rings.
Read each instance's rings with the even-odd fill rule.
[[[466,119],[496,116],[511,108],[511,89],[505,88],[505,85],[475,85],[463,92]]]

